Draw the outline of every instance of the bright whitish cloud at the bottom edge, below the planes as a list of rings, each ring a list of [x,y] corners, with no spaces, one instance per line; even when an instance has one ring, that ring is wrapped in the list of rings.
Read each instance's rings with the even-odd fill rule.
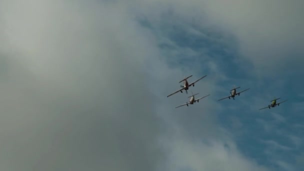
[[[268,170],[238,151],[236,144],[226,138],[219,137],[200,140],[199,138],[182,137],[182,131],[168,138],[170,145],[169,169],[176,170]],[[221,132],[224,133],[224,132]]]

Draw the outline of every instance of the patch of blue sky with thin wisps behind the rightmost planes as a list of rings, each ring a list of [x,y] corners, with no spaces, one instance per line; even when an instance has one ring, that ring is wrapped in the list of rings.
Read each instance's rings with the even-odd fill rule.
[[[303,164],[300,162],[304,161],[299,156],[304,152],[304,139],[301,137],[304,129],[300,125],[304,116],[301,107],[303,97],[300,94],[304,93],[301,88],[304,80],[300,76],[302,71],[296,64],[297,60],[285,63],[283,69],[280,69],[275,68],[275,65],[278,63],[281,66],[281,61],[277,61],[275,56],[269,56],[273,58],[271,62],[275,72],[270,71],[268,74],[265,71],[262,75],[256,75],[254,69],[258,69],[258,66],[242,57],[238,49],[238,37],[232,32],[195,26],[198,24],[189,20],[178,18],[174,12],[170,12],[162,15],[156,25],[146,19],[140,20],[140,23],[155,32],[159,39],[166,38],[173,42],[174,45],[159,43],[169,67],[180,67],[185,72],[194,67],[197,69],[196,77],[207,74],[205,80],[197,83],[198,87],[209,77],[217,77],[215,86],[220,89],[212,94],[212,99],[206,100],[228,95],[233,85],[241,86],[239,90],[250,88],[235,100],[225,99],[216,103],[222,107],[216,113],[219,125],[232,134],[244,156],[272,170],[301,170]],[[191,32],[189,28],[196,32]],[[290,55],[294,55],[292,50]],[[300,58],[301,54],[295,55],[299,56],[294,58]],[[209,62],[216,65],[217,72],[209,68]],[[220,79],[217,74],[222,74],[224,79]],[[267,106],[274,97],[288,101],[270,110],[258,110]]]

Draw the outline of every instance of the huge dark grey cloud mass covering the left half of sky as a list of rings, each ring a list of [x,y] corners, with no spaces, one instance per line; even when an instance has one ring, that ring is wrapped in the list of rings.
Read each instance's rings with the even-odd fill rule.
[[[155,170],[151,57],[119,6],[2,1],[1,169]]]

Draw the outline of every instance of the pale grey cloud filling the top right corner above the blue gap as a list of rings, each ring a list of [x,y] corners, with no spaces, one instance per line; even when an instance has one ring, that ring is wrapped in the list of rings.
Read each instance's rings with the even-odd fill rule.
[[[162,9],[167,7],[181,20],[187,18],[201,27],[233,35],[238,42],[239,67],[250,69],[254,75],[273,77],[275,72],[291,65],[294,69],[288,68],[285,72],[292,73],[300,67],[300,62],[295,61],[301,61],[303,55],[301,0],[149,0],[137,3],[142,5],[142,10],[156,6],[147,10],[154,21],[161,21]]]

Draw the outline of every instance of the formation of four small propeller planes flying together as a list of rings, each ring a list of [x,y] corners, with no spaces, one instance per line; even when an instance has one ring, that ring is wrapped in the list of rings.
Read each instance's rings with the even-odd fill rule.
[[[194,84],[195,84],[197,81],[199,81],[200,79],[206,77],[207,75],[204,75],[204,76],[200,77],[199,79],[197,79],[197,80],[195,80],[195,81],[193,81],[193,82],[191,82],[191,83],[188,83],[187,79],[188,79],[189,77],[191,77],[191,76],[192,76],[192,75],[190,75],[190,76],[188,76],[188,77],[185,77],[184,79],[180,80],[178,83],[183,82],[183,85],[180,85],[181,88],[178,89],[177,91],[175,91],[175,92],[173,92],[173,93],[167,95],[167,97],[169,97],[169,96],[171,96],[171,95],[173,95],[173,94],[175,94],[175,93],[177,93],[177,92],[179,92],[179,91],[182,93],[183,90],[185,90],[185,92],[188,93],[187,90],[189,89],[189,87],[194,86]],[[235,98],[236,95],[239,96],[240,93],[242,93],[242,92],[244,92],[244,91],[250,89],[250,88],[247,88],[247,89],[244,89],[244,90],[242,90],[242,91],[237,92],[237,91],[236,91],[237,88],[240,88],[240,86],[238,86],[238,87],[235,87],[235,86],[234,86],[234,88],[230,89],[230,95],[228,95],[228,96],[226,96],[226,97],[223,97],[223,98],[220,98],[218,101],[220,101],[220,100],[222,100],[222,99],[225,99],[225,98],[229,98],[229,99],[232,98],[232,99],[234,100],[234,98]],[[190,99],[189,99],[187,102],[185,102],[184,104],[178,105],[178,106],[176,106],[175,108],[181,107],[181,106],[184,106],[184,105],[189,106],[189,104],[194,104],[195,102],[198,102],[201,98],[204,98],[204,97],[207,97],[207,96],[210,95],[210,94],[208,94],[208,95],[205,95],[205,96],[202,96],[202,97],[199,97],[199,98],[195,99],[194,95],[197,95],[197,94],[199,94],[199,93],[193,94],[192,91],[191,91],[191,93],[192,93],[192,95],[188,96],[188,98],[190,98]],[[271,103],[268,104],[268,106],[263,107],[263,108],[260,108],[259,110],[264,109],[264,108],[269,108],[269,109],[270,109],[271,107],[278,106],[280,103],[283,103],[283,102],[287,101],[287,100],[284,100],[284,101],[281,101],[281,102],[278,102],[278,103],[277,103],[276,100],[278,100],[278,99],[280,99],[280,97],[271,100],[271,101],[270,101]]]

